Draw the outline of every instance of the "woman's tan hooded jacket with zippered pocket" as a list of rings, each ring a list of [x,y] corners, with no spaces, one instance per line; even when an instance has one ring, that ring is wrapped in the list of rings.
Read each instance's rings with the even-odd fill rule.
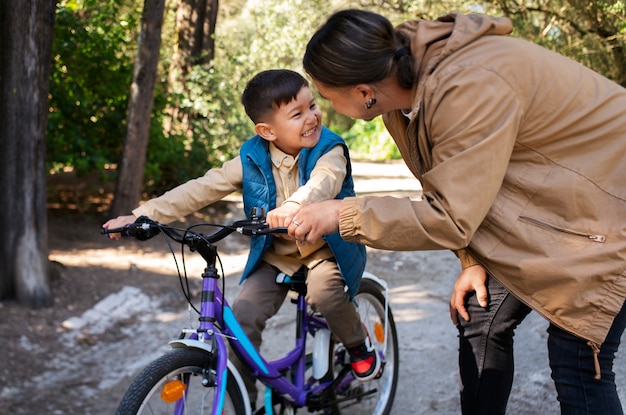
[[[626,89],[503,36],[508,19],[451,14],[397,29],[418,83],[411,121],[384,121],[424,199],[346,199],[341,235],[467,247],[523,302],[599,346],[626,297]]]

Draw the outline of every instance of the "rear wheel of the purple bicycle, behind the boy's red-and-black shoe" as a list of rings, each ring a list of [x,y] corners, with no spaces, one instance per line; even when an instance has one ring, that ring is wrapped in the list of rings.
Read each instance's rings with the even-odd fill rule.
[[[376,350],[382,352],[384,349],[384,371],[377,379],[368,382],[354,380],[349,385],[337,389],[336,397],[339,400],[346,399],[339,403],[342,415],[389,415],[391,413],[398,384],[398,337],[391,308],[387,307],[385,313],[383,292],[383,287],[375,280],[363,278],[355,301],[361,321],[367,328]],[[343,346],[339,346],[336,356],[339,359],[343,356],[348,360],[347,352],[345,348],[342,348]]]

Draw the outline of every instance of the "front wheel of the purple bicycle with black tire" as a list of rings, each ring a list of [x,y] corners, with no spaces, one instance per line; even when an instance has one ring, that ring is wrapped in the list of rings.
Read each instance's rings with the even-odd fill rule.
[[[166,402],[165,385],[185,379],[185,414],[211,414],[215,387],[202,385],[209,353],[198,349],[175,349],[150,363],[130,384],[120,401],[117,415],[173,414],[176,402]],[[177,386],[177,385],[174,385]],[[243,393],[232,373],[226,380],[223,414],[245,415]],[[183,394],[183,392],[180,392]],[[183,402],[183,401],[181,401]]]

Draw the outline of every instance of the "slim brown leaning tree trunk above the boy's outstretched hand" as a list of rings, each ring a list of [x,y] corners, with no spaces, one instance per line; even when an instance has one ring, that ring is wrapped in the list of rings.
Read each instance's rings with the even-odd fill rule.
[[[141,200],[164,9],[165,0],[144,0],[128,104],[126,141],[118,169],[112,216],[129,214]]]

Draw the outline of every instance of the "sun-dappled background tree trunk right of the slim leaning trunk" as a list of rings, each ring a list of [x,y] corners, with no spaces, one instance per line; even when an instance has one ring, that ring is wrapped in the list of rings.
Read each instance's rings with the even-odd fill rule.
[[[210,63],[215,57],[215,25],[218,0],[179,0],[176,10],[176,44],[168,73],[168,93],[186,95],[186,78],[193,65]],[[163,122],[166,135],[191,135],[189,114],[170,101]]]

